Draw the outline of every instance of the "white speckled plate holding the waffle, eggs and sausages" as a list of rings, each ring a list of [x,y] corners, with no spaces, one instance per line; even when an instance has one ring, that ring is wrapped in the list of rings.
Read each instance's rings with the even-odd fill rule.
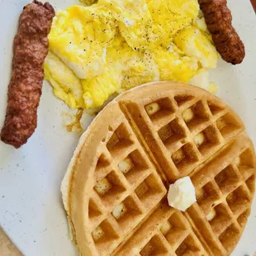
[[[26,0],[0,0],[0,126],[7,104],[12,40]],[[55,8],[76,0],[52,0]],[[211,73],[220,86],[219,96],[244,120],[256,145],[256,18],[249,0],[229,0],[234,25],[244,40],[244,63],[231,66],[223,61]],[[0,225],[26,256],[78,255],[69,241],[59,185],[72,157],[78,137],[63,126],[62,111],[50,85],[44,84],[35,134],[21,149],[0,142]],[[88,119],[88,123],[91,120]],[[256,201],[252,214],[232,255],[253,256],[256,251]]]

